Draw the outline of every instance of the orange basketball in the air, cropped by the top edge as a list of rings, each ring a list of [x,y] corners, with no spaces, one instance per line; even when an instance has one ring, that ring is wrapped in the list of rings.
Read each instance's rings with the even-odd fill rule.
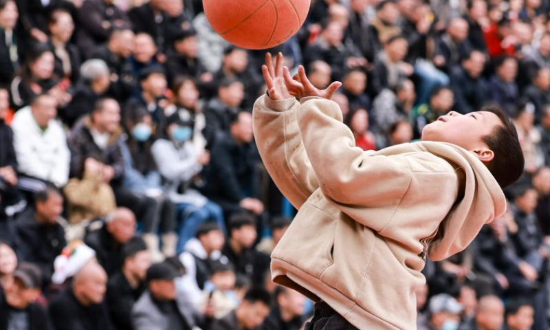
[[[203,0],[206,18],[237,47],[263,50],[294,36],[311,0]]]

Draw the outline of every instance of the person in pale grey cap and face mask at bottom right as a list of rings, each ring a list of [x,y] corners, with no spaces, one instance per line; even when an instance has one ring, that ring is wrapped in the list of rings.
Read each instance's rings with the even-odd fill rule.
[[[449,294],[432,296],[428,303],[430,330],[457,330],[460,325],[462,305]]]

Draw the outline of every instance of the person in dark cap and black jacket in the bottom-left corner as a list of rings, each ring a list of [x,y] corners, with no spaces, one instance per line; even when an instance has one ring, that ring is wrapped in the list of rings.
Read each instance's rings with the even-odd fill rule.
[[[42,287],[40,268],[21,263],[13,278],[5,295],[0,295],[0,330],[53,330],[47,312],[36,303]]]

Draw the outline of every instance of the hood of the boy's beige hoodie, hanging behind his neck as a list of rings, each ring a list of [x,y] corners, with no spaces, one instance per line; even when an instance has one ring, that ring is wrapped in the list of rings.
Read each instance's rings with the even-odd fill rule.
[[[506,211],[506,199],[487,166],[465,148],[444,142],[417,142],[415,146],[447,159],[465,174],[463,198],[443,219],[428,248],[428,257],[441,261],[464,250],[483,225],[501,217]]]

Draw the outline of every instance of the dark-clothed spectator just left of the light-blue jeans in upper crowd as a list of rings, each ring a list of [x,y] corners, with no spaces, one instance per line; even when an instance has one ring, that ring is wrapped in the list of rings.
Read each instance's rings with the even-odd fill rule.
[[[412,75],[414,67],[404,62],[408,41],[403,36],[393,36],[384,43],[384,51],[378,54],[369,80],[369,94],[376,97],[386,88],[395,89]]]

